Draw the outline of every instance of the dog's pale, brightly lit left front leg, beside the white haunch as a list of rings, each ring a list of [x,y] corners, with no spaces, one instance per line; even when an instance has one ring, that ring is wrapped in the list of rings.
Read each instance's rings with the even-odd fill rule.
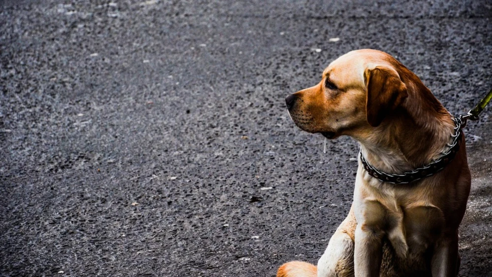
[[[355,230],[355,277],[378,277],[384,233],[374,226],[358,224]]]

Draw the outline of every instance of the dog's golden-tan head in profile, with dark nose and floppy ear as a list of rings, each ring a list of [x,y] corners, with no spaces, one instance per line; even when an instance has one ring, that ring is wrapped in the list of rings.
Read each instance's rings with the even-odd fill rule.
[[[287,96],[292,120],[301,129],[327,138],[377,127],[408,96],[397,64],[376,50],[341,56],[323,71],[317,85]]]

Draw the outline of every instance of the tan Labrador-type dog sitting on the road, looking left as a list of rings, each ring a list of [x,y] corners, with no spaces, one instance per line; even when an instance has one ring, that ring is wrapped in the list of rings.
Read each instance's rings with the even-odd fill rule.
[[[301,129],[328,139],[350,136],[361,151],[350,212],[317,266],[288,262],[277,277],[456,277],[471,183],[464,135],[451,151],[457,123],[422,81],[389,54],[356,50],[285,101]],[[404,174],[440,157],[447,163],[442,170],[408,184],[384,182],[363,164]]]

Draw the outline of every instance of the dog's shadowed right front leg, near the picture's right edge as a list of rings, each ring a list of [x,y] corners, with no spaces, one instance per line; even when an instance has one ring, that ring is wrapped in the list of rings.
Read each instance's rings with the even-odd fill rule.
[[[432,277],[456,277],[459,270],[458,232],[439,239],[431,261]]]

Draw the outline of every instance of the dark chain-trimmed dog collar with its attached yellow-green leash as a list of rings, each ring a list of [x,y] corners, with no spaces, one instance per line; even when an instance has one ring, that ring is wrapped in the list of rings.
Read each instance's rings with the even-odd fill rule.
[[[451,144],[447,144],[447,146],[449,146],[449,150],[447,152],[443,153],[438,159],[433,160],[430,164],[402,174],[389,174],[377,170],[376,168],[371,166],[367,162],[364,155],[362,154],[362,149],[361,149],[360,157],[361,157],[362,166],[370,176],[379,179],[382,182],[391,183],[391,184],[408,184],[429,177],[431,175],[434,175],[435,173],[443,170],[446,167],[446,165],[448,165],[454,159],[456,153],[458,153],[458,150],[460,149],[460,145],[461,145],[461,136],[463,134],[461,128],[466,126],[466,122],[468,120],[472,120],[472,121],[478,120],[479,119],[478,116],[485,109],[485,107],[487,106],[487,104],[489,104],[491,100],[492,100],[492,89],[489,93],[487,93],[487,95],[485,95],[484,98],[482,98],[482,100],[480,100],[480,102],[475,106],[475,108],[468,111],[466,115],[459,116],[457,118],[452,117],[456,125],[454,128],[455,130],[454,134],[451,135],[451,137],[453,137],[453,142]]]

